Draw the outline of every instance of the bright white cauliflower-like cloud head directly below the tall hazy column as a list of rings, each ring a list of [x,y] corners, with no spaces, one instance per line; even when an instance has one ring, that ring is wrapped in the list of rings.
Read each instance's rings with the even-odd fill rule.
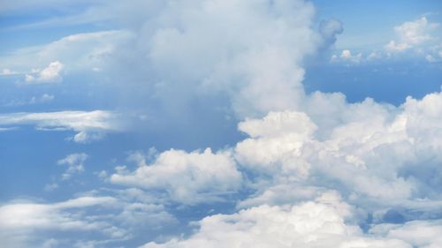
[[[296,160],[303,143],[316,131],[316,124],[309,116],[290,111],[271,112],[262,120],[249,119],[240,123],[239,129],[251,137],[235,148],[235,157],[243,166],[256,171],[261,169],[269,175],[306,176],[309,164],[290,159]],[[290,162],[284,162],[287,160]]]

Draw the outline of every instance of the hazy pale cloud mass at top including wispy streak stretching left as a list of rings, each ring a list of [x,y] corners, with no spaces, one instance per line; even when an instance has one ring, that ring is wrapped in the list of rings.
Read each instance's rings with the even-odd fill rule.
[[[145,112],[152,109],[141,106],[158,105],[157,118],[182,115],[191,99],[209,101],[212,94],[229,98],[222,107],[242,118],[297,108],[304,95],[301,61],[330,46],[342,32],[337,19],[315,30],[313,5],[301,0],[167,3],[90,4],[85,14],[112,16],[122,28],[19,49],[0,59],[0,66],[28,71],[57,60],[65,64],[65,77],[99,68],[125,93],[120,102]],[[127,84],[119,83],[123,80]],[[116,95],[121,94],[111,97]],[[151,98],[155,104],[146,104]]]

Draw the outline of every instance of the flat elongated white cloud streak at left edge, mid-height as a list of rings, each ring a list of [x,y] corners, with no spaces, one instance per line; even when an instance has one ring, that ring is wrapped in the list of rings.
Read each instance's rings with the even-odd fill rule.
[[[10,113],[0,115],[0,125],[35,125],[39,130],[77,132],[73,141],[87,143],[103,138],[106,132],[122,129],[117,115],[110,111],[60,111],[46,113]]]

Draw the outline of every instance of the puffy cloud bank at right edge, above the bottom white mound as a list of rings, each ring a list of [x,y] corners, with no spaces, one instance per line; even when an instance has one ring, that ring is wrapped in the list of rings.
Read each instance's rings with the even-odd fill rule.
[[[333,105],[339,106],[339,101]],[[340,123],[319,127],[305,113],[270,113],[262,120],[240,124],[240,130],[251,138],[237,144],[235,157],[241,167],[261,171],[255,177],[258,181],[270,177],[271,184],[289,184],[297,190],[311,190],[312,186],[336,189],[368,208],[416,207],[409,199],[429,200],[430,205],[436,200],[432,203],[436,207],[440,195],[431,189],[442,179],[436,166],[442,146],[435,139],[442,135],[440,106],[440,93],[422,100],[408,98],[398,108],[370,100],[345,103],[339,116],[334,116]],[[335,114],[329,111],[326,116]],[[310,116],[321,117],[317,113]],[[438,172],[429,181],[429,175],[419,170]],[[260,192],[269,195],[268,190]]]

